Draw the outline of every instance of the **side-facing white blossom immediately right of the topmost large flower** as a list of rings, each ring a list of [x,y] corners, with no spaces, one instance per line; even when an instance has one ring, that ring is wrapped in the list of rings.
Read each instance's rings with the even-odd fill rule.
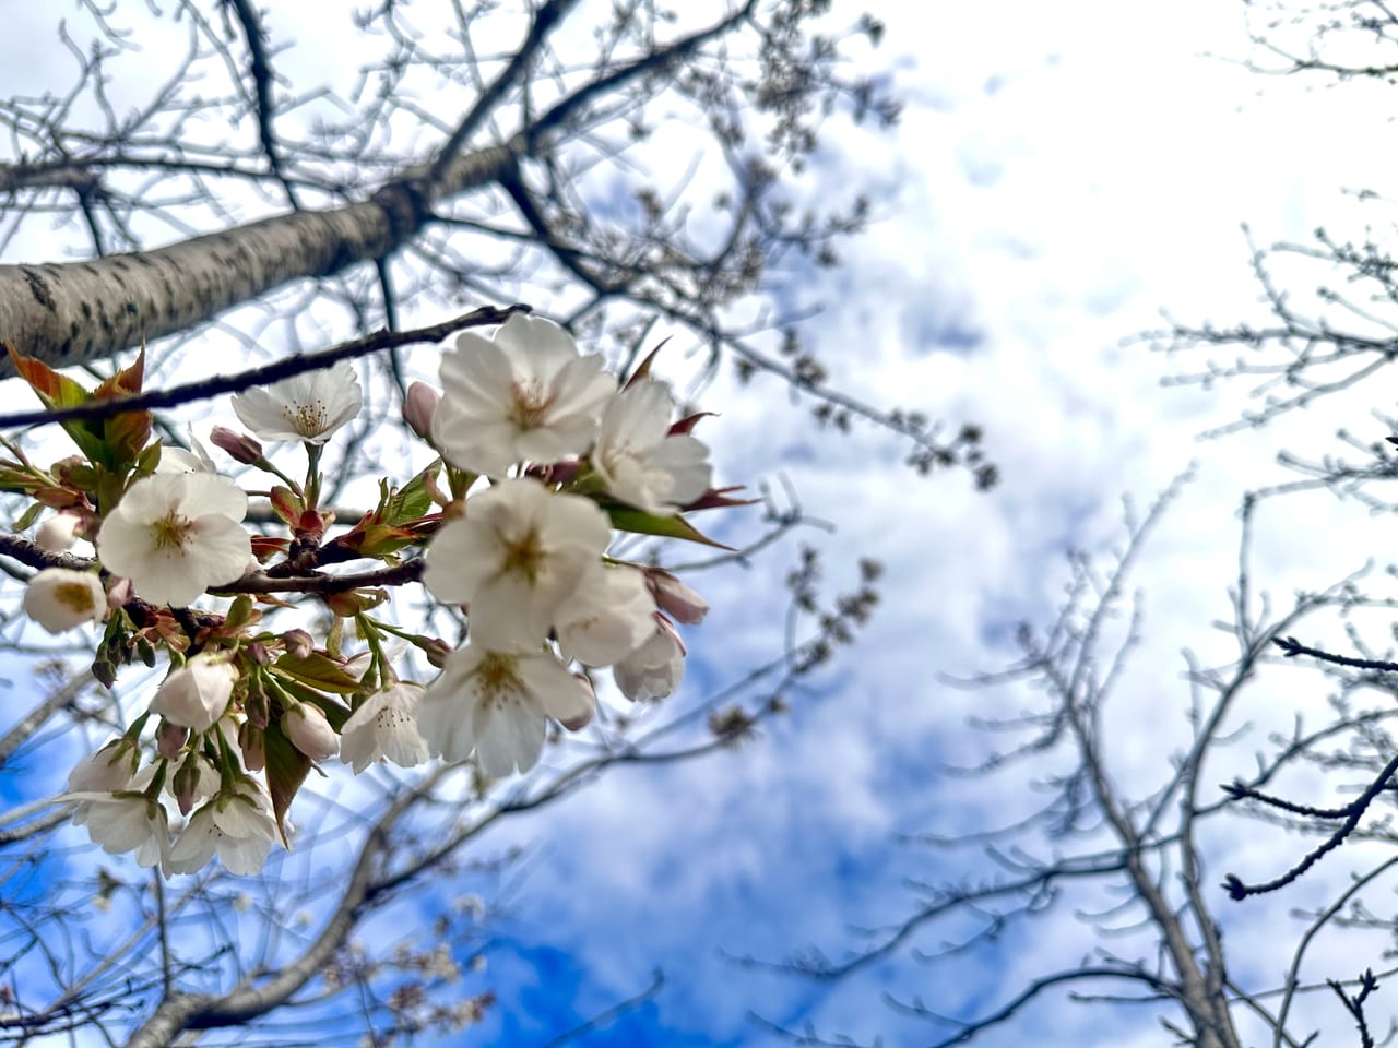
[[[670,388],[642,379],[618,393],[603,412],[590,456],[607,490],[661,517],[709,490],[709,449],[686,433],[670,436]]]

